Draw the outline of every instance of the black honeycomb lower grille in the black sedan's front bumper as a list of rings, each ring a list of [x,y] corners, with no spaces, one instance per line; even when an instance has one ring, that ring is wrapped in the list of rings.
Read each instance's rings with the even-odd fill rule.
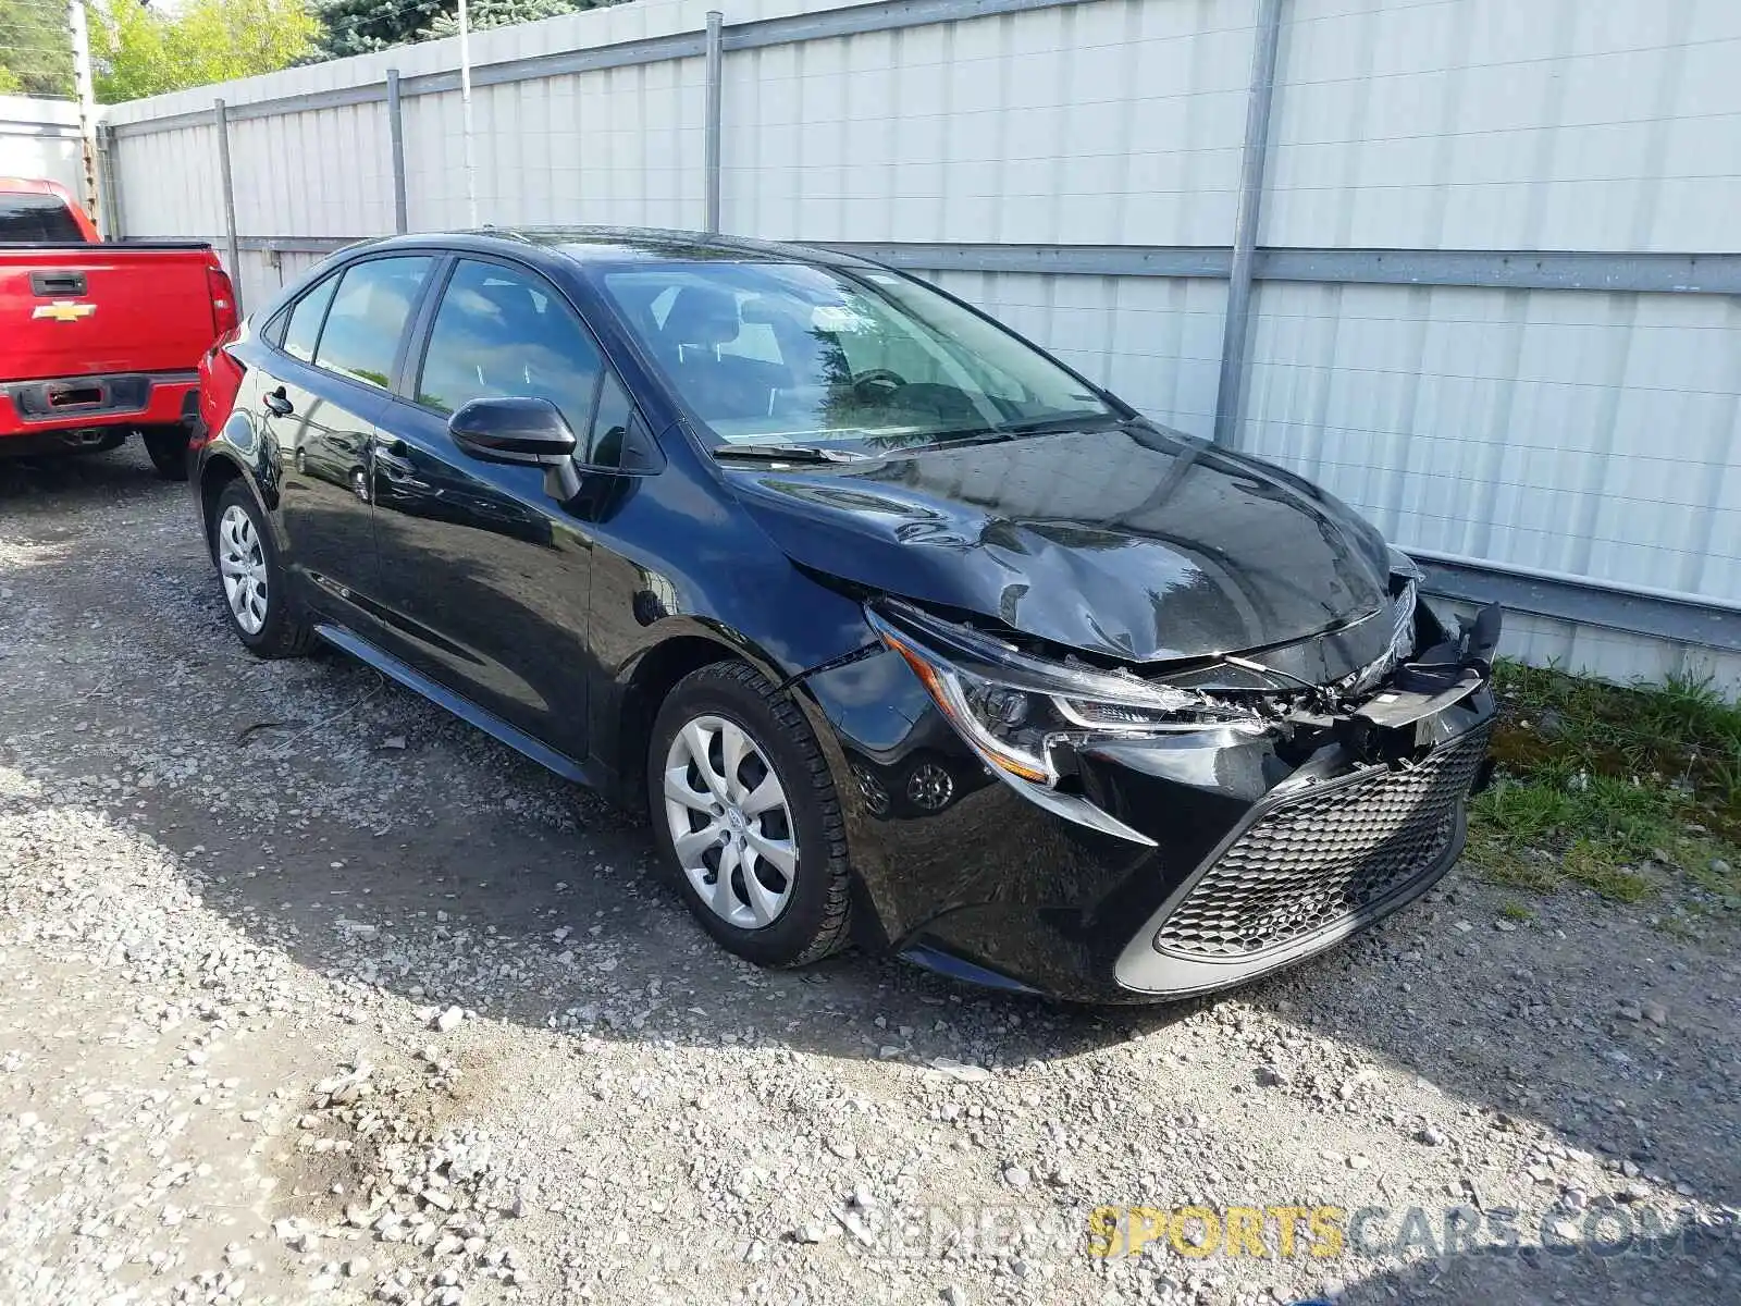
[[[1250,956],[1382,902],[1445,852],[1485,752],[1478,730],[1408,770],[1276,804],[1210,865],[1156,947]]]

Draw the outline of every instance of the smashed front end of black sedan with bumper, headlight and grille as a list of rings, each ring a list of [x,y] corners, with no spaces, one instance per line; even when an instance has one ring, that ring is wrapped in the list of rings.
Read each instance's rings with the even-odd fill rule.
[[[1424,892],[1487,777],[1499,611],[1447,629],[1417,585],[1398,555],[1377,611],[1165,665],[870,601],[930,710],[909,707],[898,757],[855,751],[853,771],[881,848],[949,890],[904,919],[909,878],[872,867],[891,942],[980,982],[1177,996],[1316,953]],[[947,723],[954,761],[926,719]],[[933,801],[902,804],[890,763],[921,754],[912,792]],[[940,836],[973,855],[951,860]]]

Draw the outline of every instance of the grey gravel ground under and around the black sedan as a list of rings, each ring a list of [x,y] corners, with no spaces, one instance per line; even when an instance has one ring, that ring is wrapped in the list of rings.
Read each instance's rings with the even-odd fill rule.
[[[1741,1301],[1741,966],[1645,909],[1454,874],[1093,1012],[756,970],[648,857],[374,672],[247,656],[141,453],[0,465],[0,1299]],[[1092,1254],[1182,1205],[1381,1212]]]

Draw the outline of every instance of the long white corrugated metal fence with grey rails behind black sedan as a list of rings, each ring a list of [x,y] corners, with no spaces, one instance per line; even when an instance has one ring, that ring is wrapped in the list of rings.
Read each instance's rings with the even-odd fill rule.
[[[1741,5],[705,9],[474,37],[481,219],[717,205],[919,270],[1321,481],[1502,599],[1513,651],[1741,688]],[[437,42],[117,106],[120,221],[232,249],[251,303],[463,225],[454,70]]]

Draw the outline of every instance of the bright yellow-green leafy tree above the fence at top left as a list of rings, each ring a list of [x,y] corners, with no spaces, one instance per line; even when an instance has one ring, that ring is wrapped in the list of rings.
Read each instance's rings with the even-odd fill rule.
[[[106,0],[91,24],[97,99],[275,73],[313,49],[319,31],[303,0],[190,0],[172,14]]]

